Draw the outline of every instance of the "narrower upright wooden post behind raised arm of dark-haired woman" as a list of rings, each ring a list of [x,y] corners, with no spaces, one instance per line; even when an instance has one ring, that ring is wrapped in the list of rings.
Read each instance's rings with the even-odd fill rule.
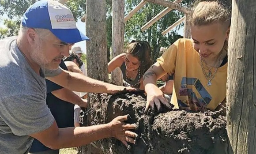
[[[113,0],[112,56],[123,53],[124,49],[124,0]],[[116,68],[111,73],[111,82],[123,85],[122,71]]]

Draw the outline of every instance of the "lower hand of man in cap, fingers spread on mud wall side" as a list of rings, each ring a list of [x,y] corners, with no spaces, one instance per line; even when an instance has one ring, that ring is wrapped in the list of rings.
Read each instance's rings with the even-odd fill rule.
[[[130,131],[136,129],[138,126],[136,124],[124,123],[124,121],[128,120],[128,116],[117,116],[109,123],[112,136],[119,139],[125,146],[128,146],[127,142],[135,144],[134,138],[138,137],[135,132]]]

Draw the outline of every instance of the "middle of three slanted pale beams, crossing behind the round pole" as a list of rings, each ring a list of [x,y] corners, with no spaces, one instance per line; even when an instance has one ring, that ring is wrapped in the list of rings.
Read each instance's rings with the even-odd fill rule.
[[[182,0],[175,0],[174,3],[181,3]],[[141,31],[147,30],[149,27],[151,27],[155,22],[157,22],[159,19],[161,19],[163,16],[165,16],[169,11],[172,11],[173,9],[167,7],[158,15],[154,16],[149,22],[147,22],[144,26],[141,27]]]

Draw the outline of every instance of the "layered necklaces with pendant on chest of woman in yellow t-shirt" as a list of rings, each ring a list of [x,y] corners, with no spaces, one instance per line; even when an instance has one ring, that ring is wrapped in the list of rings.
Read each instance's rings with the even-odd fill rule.
[[[215,65],[208,67],[206,61],[202,58],[202,56],[200,54],[200,64],[201,64],[201,68],[203,70],[203,75],[205,76],[205,78],[208,81],[207,86],[211,86],[211,80],[215,77],[215,75],[218,71],[218,68],[222,64],[223,58],[225,56],[226,56],[226,50],[222,49],[222,53],[218,56]],[[204,68],[203,63],[206,65],[206,68]],[[213,73],[211,72],[212,68],[215,68],[215,71]]]

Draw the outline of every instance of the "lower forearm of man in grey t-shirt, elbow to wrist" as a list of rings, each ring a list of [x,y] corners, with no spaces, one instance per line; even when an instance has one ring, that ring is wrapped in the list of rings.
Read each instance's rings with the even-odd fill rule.
[[[83,146],[109,137],[112,136],[108,124],[90,127],[60,128],[56,149]]]

